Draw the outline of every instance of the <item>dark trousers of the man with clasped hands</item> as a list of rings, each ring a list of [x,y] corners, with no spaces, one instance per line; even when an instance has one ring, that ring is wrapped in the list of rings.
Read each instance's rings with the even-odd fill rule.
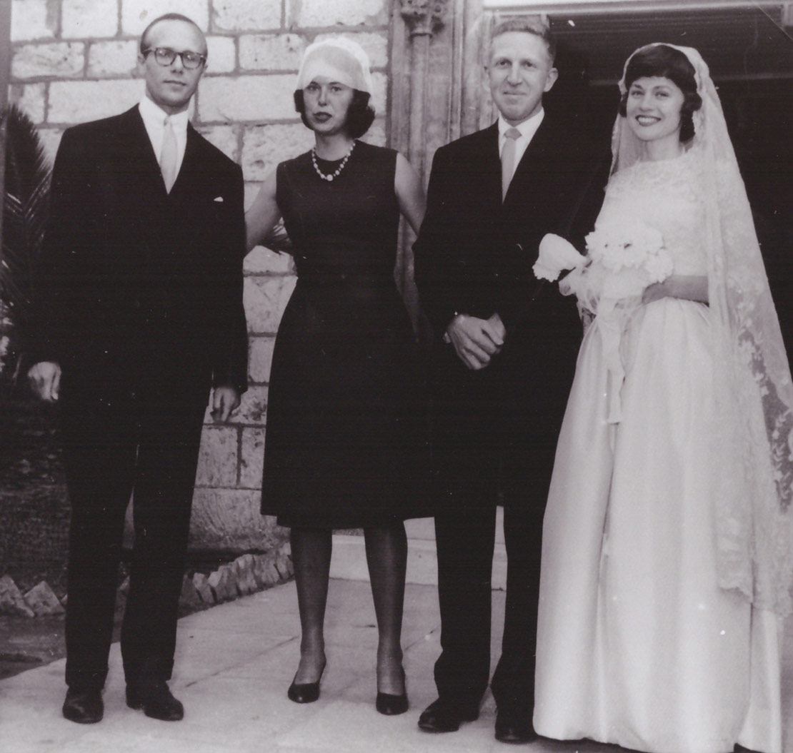
[[[525,379],[495,370],[442,380],[448,355],[446,372],[435,375],[442,648],[435,684],[440,698],[467,706],[487,689],[496,506],[503,504],[507,598],[491,687],[499,709],[531,715],[542,517],[564,408],[561,399],[527,399]]]

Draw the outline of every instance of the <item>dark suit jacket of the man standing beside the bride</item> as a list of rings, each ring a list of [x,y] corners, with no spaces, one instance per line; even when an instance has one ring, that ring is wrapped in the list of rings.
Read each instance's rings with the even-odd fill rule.
[[[435,333],[435,380],[451,394],[456,381],[481,384],[505,400],[563,410],[581,327],[575,301],[555,283],[541,284],[531,267],[546,233],[583,247],[603,197],[592,185],[586,141],[568,130],[546,110],[503,203],[496,124],[435,153],[413,251],[419,300]],[[455,312],[482,319],[498,313],[504,322],[504,350],[485,369],[467,369],[442,345]]]

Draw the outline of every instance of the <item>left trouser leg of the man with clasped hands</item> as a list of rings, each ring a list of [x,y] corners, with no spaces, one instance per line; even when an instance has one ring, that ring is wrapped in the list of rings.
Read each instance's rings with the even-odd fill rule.
[[[443,700],[471,707],[481,701],[490,677],[499,439],[488,374],[461,371],[456,359],[442,349],[433,361],[442,649],[435,684]]]

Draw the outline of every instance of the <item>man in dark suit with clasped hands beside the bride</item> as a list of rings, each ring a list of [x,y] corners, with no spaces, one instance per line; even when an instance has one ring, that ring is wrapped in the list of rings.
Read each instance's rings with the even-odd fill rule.
[[[492,692],[496,739],[532,740],[542,514],[580,342],[574,300],[531,267],[542,236],[580,241],[591,159],[542,107],[557,78],[544,26],[506,21],[487,65],[500,111],[490,128],[435,153],[413,247],[435,333],[435,517],[442,654],[439,698],[419,717],[451,732],[479,713],[490,667],[496,505],[508,556],[504,641]]]

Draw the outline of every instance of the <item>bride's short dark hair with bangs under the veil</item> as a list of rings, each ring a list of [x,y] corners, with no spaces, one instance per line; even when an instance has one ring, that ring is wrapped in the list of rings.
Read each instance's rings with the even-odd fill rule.
[[[626,117],[626,103],[630,85],[637,78],[660,76],[683,92],[683,105],[680,106],[680,141],[694,137],[694,119],[691,117],[702,107],[702,97],[697,94],[694,66],[680,50],[666,44],[656,44],[636,52],[630,59],[625,71],[626,93],[619,101],[619,114]]]

